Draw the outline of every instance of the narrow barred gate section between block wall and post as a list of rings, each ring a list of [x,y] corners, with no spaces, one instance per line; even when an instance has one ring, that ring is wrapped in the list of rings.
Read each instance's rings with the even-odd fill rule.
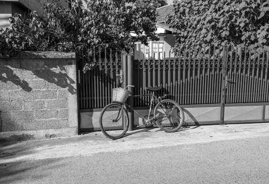
[[[83,72],[86,63],[93,67]],[[78,65],[79,109],[103,108],[111,103],[112,88],[121,86],[119,77],[122,70],[121,54],[110,50],[99,50],[92,60],[81,59]]]

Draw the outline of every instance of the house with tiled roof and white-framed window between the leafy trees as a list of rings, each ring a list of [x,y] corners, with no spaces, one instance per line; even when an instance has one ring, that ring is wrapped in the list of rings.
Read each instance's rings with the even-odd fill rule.
[[[159,40],[149,40],[149,44],[147,46],[141,42],[137,42],[134,48],[134,59],[164,59],[168,58],[169,56],[174,57],[174,53],[172,52],[175,44],[173,29],[169,28],[169,26],[166,24],[167,15],[174,14],[174,7],[173,5],[160,7],[156,9],[156,12],[158,13],[156,18],[156,34]]]

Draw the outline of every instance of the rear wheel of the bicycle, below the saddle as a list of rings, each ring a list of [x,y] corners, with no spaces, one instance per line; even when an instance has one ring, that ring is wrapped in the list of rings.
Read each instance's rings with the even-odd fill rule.
[[[173,100],[163,100],[154,109],[156,125],[165,132],[175,132],[181,128],[184,121],[182,108]]]

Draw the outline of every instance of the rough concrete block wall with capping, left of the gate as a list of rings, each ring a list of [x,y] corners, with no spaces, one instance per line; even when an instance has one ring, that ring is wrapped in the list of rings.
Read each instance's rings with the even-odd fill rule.
[[[77,134],[74,53],[0,59],[0,142]]]

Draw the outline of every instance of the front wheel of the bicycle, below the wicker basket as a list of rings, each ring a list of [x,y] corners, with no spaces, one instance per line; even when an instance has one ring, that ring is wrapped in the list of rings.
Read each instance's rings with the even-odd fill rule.
[[[101,111],[99,124],[103,134],[110,139],[121,138],[129,126],[129,118],[122,104],[111,103]]]

